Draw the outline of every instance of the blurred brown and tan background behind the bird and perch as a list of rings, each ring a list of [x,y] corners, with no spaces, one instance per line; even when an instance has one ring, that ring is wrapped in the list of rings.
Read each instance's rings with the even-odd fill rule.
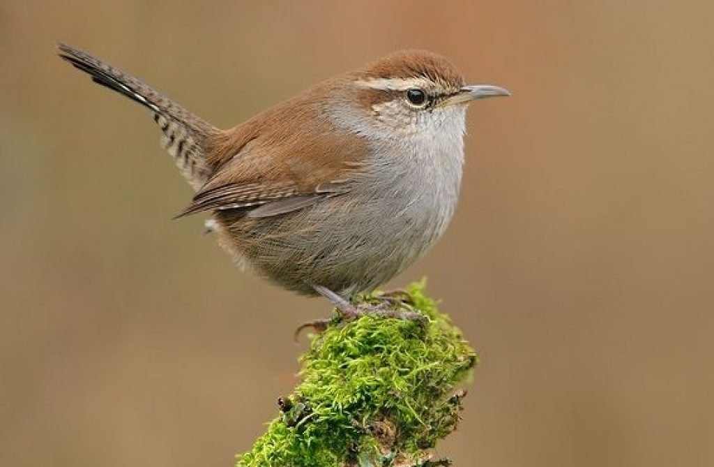
[[[0,1],[0,465],[233,464],[324,300],[238,272],[87,49],[231,127],[394,49],[468,121],[426,275],[481,353],[456,466],[714,464],[714,3]]]

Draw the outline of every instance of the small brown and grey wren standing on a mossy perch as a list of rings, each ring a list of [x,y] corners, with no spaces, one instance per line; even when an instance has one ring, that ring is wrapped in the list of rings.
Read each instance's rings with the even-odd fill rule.
[[[456,207],[466,107],[508,96],[466,86],[440,55],[405,50],[218,129],[84,51],[63,59],[154,113],[162,144],[241,267],[343,313],[423,255]]]

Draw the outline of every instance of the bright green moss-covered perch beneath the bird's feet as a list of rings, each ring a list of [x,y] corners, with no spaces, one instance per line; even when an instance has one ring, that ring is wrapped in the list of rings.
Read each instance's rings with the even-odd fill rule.
[[[361,301],[376,303],[378,294]],[[302,383],[238,467],[439,466],[431,448],[451,433],[463,382],[478,358],[461,333],[410,285],[394,306],[426,320],[338,320],[302,356]]]

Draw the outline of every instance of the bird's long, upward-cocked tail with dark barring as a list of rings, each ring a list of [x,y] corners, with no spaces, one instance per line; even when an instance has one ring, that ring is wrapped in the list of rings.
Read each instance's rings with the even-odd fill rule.
[[[154,120],[164,133],[161,139],[164,149],[174,157],[176,165],[194,189],[203,186],[211,173],[205,154],[218,129],[130,74],[66,44],[58,44],[57,47],[61,58],[89,74],[92,81],[154,112]]]

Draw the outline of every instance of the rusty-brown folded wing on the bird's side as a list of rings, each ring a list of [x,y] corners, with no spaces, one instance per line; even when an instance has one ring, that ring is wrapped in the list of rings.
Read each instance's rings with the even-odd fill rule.
[[[178,217],[234,209],[268,217],[348,192],[365,144],[312,102],[293,99],[224,133],[209,157],[213,175]]]

